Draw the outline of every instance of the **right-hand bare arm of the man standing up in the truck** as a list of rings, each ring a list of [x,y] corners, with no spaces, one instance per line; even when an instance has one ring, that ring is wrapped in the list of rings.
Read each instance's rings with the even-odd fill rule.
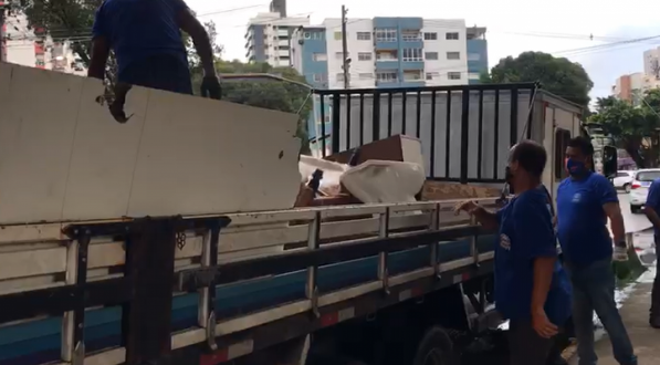
[[[207,76],[216,76],[213,64],[213,46],[203,25],[195,18],[195,14],[184,0],[171,0],[177,11],[177,23],[179,28],[192,39],[197,54]]]

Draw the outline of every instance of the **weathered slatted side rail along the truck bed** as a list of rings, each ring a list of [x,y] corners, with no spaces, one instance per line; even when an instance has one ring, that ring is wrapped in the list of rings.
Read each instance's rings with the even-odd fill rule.
[[[484,199],[485,205],[493,202]],[[262,336],[248,346],[245,331],[262,331],[266,324],[281,326],[286,319],[305,315],[311,324],[298,330],[308,333],[314,326],[338,322],[333,309],[345,302],[377,294],[379,300],[369,304],[377,309],[422,294],[406,286],[416,280],[430,280],[427,289],[432,290],[437,283],[458,283],[479,273],[483,269],[480,263],[489,270],[492,251],[480,252],[476,238],[491,232],[467,216],[454,216],[454,204],[146,217],[64,228],[61,223],[4,227],[0,230],[0,262],[8,264],[0,265],[0,293],[4,292],[0,294],[0,333],[12,325],[38,322],[35,317],[63,315],[60,357],[65,363],[140,364],[188,347],[198,357],[220,353],[224,359],[233,358],[286,340]],[[438,242],[465,237],[469,255],[439,262],[443,243]],[[285,248],[300,241],[305,247]],[[422,252],[429,254],[427,264],[399,272],[390,268],[392,254],[420,247],[430,248]],[[273,248],[276,250],[254,251]],[[250,250],[256,254],[232,257]],[[375,280],[319,290],[319,270],[368,257],[377,258]],[[452,274],[457,270],[461,272]],[[304,298],[240,315],[221,317],[218,313],[218,288],[300,271],[306,272]],[[175,299],[199,293],[192,327],[172,326],[172,292]],[[114,348],[85,351],[85,316],[91,315],[91,307],[111,305],[122,305],[121,343]],[[356,316],[360,310],[353,306],[350,313]],[[348,319],[348,312],[342,315]]]

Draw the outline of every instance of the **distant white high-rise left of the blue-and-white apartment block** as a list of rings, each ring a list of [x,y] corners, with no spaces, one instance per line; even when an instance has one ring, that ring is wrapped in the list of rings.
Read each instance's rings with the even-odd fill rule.
[[[280,12],[256,14],[248,22],[245,58],[249,62],[266,62],[273,67],[291,65],[291,34],[310,24],[308,17],[282,17]]]

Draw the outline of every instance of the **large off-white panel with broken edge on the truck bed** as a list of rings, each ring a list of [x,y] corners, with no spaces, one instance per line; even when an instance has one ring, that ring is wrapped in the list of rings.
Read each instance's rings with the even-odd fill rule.
[[[101,82],[0,64],[0,222],[286,209],[293,114],[134,87],[126,124]]]

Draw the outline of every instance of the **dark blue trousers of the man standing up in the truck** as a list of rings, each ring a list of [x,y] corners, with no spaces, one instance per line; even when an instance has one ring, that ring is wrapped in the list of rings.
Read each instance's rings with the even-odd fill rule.
[[[187,62],[170,54],[134,61],[122,70],[118,81],[179,94],[192,94]]]

